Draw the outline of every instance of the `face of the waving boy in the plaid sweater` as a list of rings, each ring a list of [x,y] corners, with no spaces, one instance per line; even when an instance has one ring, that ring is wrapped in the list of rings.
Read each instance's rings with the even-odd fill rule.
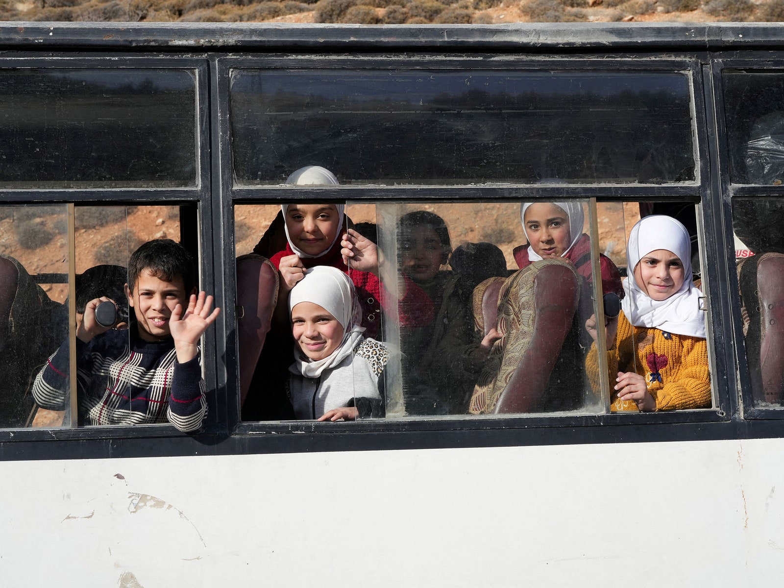
[[[145,341],[161,341],[171,335],[169,318],[177,304],[187,308],[188,295],[185,292],[182,276],[173,281],[163,281],[151,274],[150,270],[142,270],[136,278],[133,292],[125,285],[128,303],[136,314],[136,325],[139,336]]]

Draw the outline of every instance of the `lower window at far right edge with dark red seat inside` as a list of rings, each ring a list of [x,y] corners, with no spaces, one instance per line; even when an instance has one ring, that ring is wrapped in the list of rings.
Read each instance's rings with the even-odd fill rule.
[[[743,336],[753,405],[784,405],[784,199],[734,198]]]

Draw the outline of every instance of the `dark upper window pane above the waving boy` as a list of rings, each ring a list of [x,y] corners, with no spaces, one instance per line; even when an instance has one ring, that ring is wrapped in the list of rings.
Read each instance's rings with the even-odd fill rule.
[[[196,78],[0,68],[0,187],[194,187]]]

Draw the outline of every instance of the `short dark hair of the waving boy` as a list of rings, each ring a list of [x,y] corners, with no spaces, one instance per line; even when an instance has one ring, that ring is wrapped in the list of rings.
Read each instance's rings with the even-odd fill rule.
[[[131,254],[128,260],[128,289],[133,292],[143,270],[163,281],[183,278],[185,293],[189,295],[196,285],[196,267],[193,257],[180,243],[171,239],[147,241]]]

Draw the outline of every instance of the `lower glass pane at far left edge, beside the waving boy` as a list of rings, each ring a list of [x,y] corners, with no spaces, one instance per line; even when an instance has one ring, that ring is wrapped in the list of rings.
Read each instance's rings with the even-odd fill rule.
[[[2,427],[68,425],[65,412],[38,408],[32,394],[46,358],[67,339],[67,262],[66,205],[0,207]]]

